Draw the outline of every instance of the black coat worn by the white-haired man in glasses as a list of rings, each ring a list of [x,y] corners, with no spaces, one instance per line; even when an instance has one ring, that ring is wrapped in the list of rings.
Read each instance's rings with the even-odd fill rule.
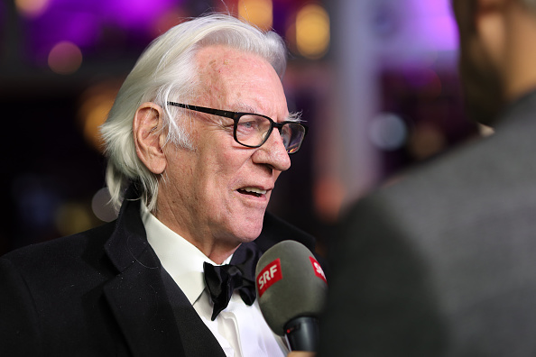
[[[1,356],[225,356],[147,243],[139,201],[115,223],[0,259]],[[273,215],[264,252],[314,239]]]

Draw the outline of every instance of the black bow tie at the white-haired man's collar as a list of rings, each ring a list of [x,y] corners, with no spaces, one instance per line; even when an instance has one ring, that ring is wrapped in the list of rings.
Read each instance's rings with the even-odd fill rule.
[[[237,289],[245,304],[251,306],[255,301],[255,266],[261,256],[255,243],[242,243],[233,254],[230,264],[214,266],[203,264],[205,284],[214,303],[212,321],[229,304]]]

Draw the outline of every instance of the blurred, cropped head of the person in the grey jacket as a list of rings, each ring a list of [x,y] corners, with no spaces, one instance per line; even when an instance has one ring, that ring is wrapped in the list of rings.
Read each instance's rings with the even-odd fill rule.
[[[452,0],[467,112],[493,124],[504,104],[536,85],[536,1]]]

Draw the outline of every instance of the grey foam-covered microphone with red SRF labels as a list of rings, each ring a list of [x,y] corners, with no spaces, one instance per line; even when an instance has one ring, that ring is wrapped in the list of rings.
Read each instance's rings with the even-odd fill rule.
[[[315,352],[328,281],[310,250],[295,241],[277,243],[257,262],[255,277],[259,306],[273,333],[284,335],[291,351]]]

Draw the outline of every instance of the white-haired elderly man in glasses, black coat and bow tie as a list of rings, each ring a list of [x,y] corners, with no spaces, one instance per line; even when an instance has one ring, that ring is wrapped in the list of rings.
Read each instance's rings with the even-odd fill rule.
[[[287,354],[253,275],[274,243],[314,249],[265,214],[307,133],[285,63],[279,36],[226,15],[152,42],[102,127],[119,216],[0,260],[1,355]]]

